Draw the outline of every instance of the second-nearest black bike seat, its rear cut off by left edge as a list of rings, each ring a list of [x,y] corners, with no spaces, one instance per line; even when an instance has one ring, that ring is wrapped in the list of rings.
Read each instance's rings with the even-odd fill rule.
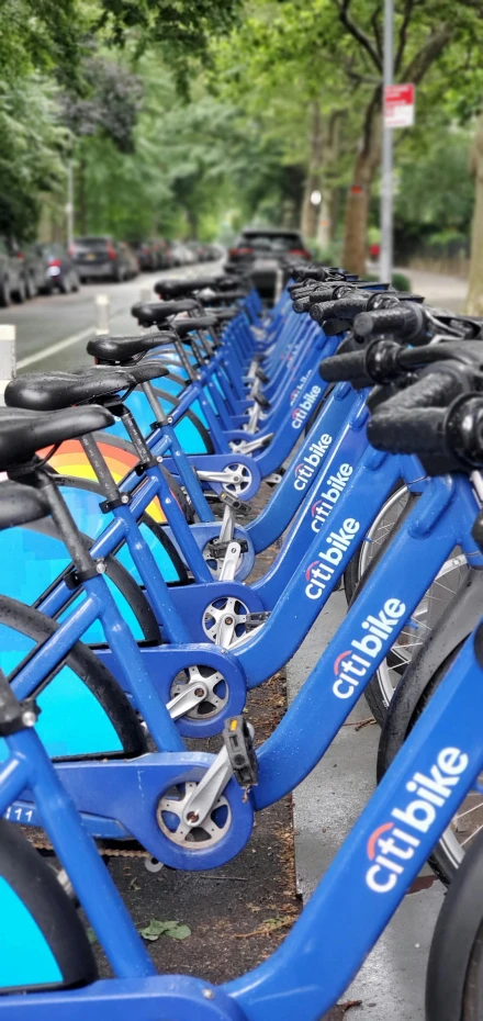
[[[36,450],[56,446],[66,439],[106,429],[114,417],[106,407],[66,407],[59,412],[27,412],[0,408],[0,471],[30,461]]]

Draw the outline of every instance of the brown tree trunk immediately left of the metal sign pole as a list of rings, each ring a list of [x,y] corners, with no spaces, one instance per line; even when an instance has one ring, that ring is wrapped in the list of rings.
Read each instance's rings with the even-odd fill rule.
[[[364,117],[364,127],[346,206],[342,266],[351,273],[366,271],[367,233],[371,189],[381,159],[381,89],[374,90]]]

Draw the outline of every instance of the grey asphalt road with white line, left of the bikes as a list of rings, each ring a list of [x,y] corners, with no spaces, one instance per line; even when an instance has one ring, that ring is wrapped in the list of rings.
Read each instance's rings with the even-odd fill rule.
[[[106,294],[109,298],[112,332],[136,333],[135,321],[130,315],[131,305],[139,299],[142,291],[153,290],[153,284],[160,276],[199,276],[200,272],[218,272],[220,266],[220,262],[205,262],[202,267],[142,273],[128,283],[100,281],[82,287],[77,294],[38,296],[24,305],[1,308],[0,324],[13,323],[16,326],[20,371],[71,369],[89,364],[86,344],[96,329],[98,294]]]

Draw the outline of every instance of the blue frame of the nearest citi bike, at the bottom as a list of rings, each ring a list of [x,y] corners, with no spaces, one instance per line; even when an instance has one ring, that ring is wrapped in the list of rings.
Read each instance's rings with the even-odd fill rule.
[[[131,1021],[133,1013],[139,1021],[292,1021],[295,1014],[318,1021],[361,966],[483,766],[480,631],[451,665],[289,936],[254,972],[221,987],[190,976],[155,975],[36,736],[24,731],[8,738],[0,811],[25,786],[34,790],[115,978],[4,996],[0,1016],[9,1021],[83,1021],[86,1016]]]

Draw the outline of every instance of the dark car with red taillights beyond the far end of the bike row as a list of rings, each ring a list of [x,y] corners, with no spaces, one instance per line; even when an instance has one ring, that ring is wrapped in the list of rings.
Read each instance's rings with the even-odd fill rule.
[[[311,258],[299,231],[246,227],[228,250],[228,269],[246,270],[262,298],[273,299],[277,271],[287,256]]]

